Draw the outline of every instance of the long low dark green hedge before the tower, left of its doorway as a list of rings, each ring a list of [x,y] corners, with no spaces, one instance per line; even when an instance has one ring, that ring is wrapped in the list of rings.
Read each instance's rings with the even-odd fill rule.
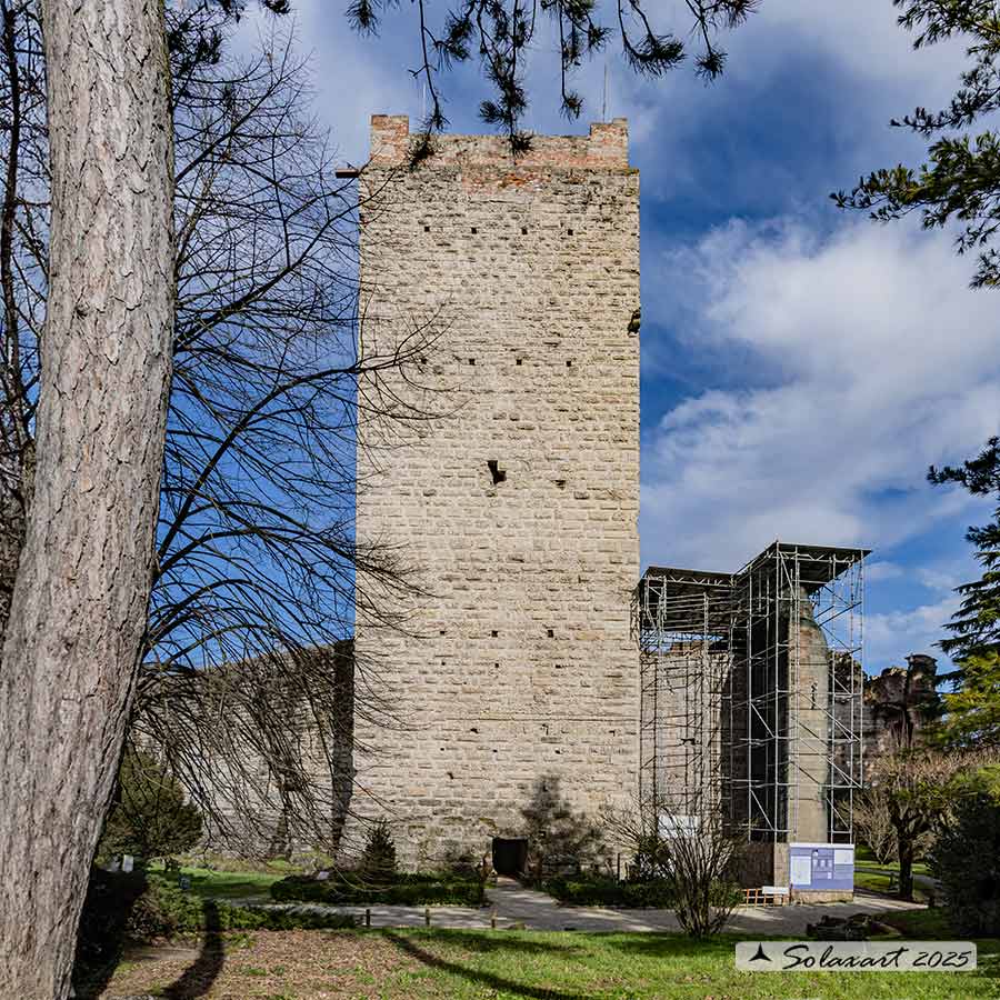
[[[289,876],[271,886],[271,898],[279,902],[319,902],[367,906],[451,906],[478,907],[484,898],[483,883],[478,878],[439,872],[398,874],[392,884],[373,884],[363,877],[331,874],[326,881],[307,876]]]

